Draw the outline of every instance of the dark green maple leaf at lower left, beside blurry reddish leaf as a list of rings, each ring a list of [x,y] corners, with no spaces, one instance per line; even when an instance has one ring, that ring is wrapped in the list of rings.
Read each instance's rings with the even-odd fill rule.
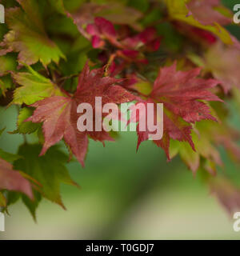
[[[78,186],[66,169],[65,163],[68,158],[58,150],[58,146],[53,146],[44,156],[38,157],[41,149],[42,146],[38,144],[20,146],[18,155],[22,158],[14,162],[14,168],[20,168],[22,172],[38,181],[42,185],[40,192],[44,198],[65,208],[60,195],[60,184]],[[31,205],[30,201],[25,203],[30,205],[28,208],[33,213],[36,206]]]

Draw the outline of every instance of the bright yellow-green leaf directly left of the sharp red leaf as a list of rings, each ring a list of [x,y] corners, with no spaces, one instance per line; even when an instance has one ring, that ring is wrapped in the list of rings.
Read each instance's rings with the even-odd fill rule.
[[[12,77],[21,87],[14,90],[12,103],[31,105],[43,98],[62,95],[61,90],[50,79],[43,77],[28,66],[30,72],[14,73]]]

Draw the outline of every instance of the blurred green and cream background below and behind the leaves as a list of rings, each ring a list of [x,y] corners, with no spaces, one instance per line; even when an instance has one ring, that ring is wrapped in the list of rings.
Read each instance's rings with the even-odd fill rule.
[[[232,7],[239,1],[224,1]],[[232,29],[232,28],[230,28]],[[239,30],[233,29],[239,36]],[[227,64],[226,64],[227,65]],[[232,120],[238,127],[238,111]],[[15,129],[17,110],[0,107],[0,128]],[[28,138],[29,141],[31,138]],[[32,138],[34,140],[34,138]],[[3,134],[0,147],[17,153],[21,135]],[[120,134],[118,142],[90,142],[86,168],[68,168],[81,190],[62,186],[67,210],[43,200],[34,223],[22,202],[10,207],[6,232],[0,239],[239,239],[232,216],[210,196],[201,179],[175,158],[166,162],[161,149],[142,143],[136,154],[135,133]],[[65,150],[62,146],[62,150]],[[222,153],[225,171],[240,182],[239,166]]]

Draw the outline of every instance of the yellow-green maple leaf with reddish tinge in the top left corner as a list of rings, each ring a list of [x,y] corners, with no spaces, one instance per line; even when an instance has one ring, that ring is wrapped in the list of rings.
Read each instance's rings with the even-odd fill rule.
[[[43,18],[36,0],[18,0],[21,8],[6,10],[6,24],[10,32],[5,35],[6,51],[18,52],[18,61],[32,65],[38,61],[47,66],[65,58],[62,51],[46,34]]]

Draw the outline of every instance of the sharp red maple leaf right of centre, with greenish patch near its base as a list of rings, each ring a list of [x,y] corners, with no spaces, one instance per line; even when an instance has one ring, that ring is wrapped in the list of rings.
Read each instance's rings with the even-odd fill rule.
[[[191,138],[191,130],[194,122],[203,119],[217,121],[210,114],[210,107],[206,103],[199,101],[221,101],[208,89],[217,86],[218,81],[214,79],[197,78],[201,69],[197,68],[189,71],[176,71],[176,62],[170,67],[160,69],[158,78],[154,82],[153,90],[146,100],[147,103],[163,103],[163,137],[161,140],[154,140],[157,146],[165,150],[167,158],[170,159],[169,146],[170,138],[178,141],[185,141],[190,144],[193,150],[194,142]],[[140,104],[141,101],[136,103]],[[154,112],[156,114],[156,111]],[[143,115],[143,118],[145,116]],[[154,116],[154,119],[157,117]],[[130,122],[140,122],[139,114],[132,114]],[[146,120],[147,123],[147,120]],[[149,138],[149,130],[140,131],[139,123],[137,126],[138,146]]]

